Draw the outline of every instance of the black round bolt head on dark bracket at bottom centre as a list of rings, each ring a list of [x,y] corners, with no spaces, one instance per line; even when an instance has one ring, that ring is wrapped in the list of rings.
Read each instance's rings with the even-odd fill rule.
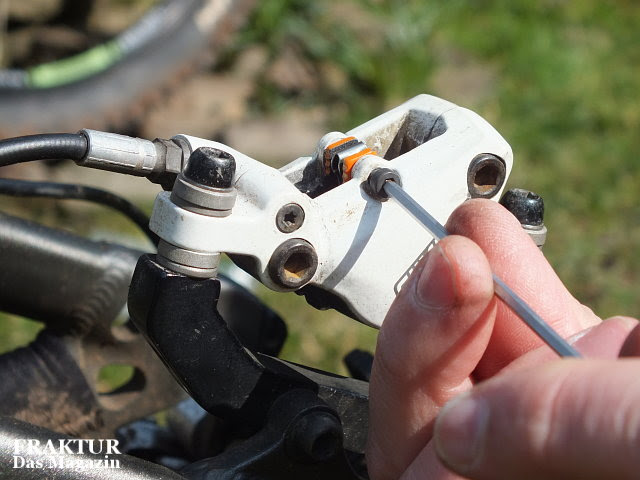
[[[335,415],[312,411],[296,419],[286,433],[286,450],[303,463],[327,462],[342,449],[342,425]]]

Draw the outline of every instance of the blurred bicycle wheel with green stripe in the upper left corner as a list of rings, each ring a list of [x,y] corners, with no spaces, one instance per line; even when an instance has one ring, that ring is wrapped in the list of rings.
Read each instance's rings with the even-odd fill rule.
[[[50,74],[49,83],[41,78],[37,85],[9,85],[5,76],[0,85],[0,137],[81,128],[130,129],[168,90],[215,58],[254,4],[255,0],[166,0],[116,39],[139,32],[151,15],[156,15],[153,21],[161,28],[153,35],[147,31],[144,41],[138,39],[136,48],[107,68],[57,83]],[[108,55],[113,44],[80,55],[94,55],[96,59],[87,61],[100,63],[100,54]]]

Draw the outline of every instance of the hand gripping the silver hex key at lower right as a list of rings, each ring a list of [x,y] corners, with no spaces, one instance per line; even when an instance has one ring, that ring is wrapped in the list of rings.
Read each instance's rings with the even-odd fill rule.
[[[460,478],[442,462],[479,479],[637,478],[640,361],[614,360],[627,337],[623,353],[640,351],[637,322],[601,322],[493,202],[466,202],[447,228],[380,330],[372,479]],[[591,359],[556,360],[494,297],[492,270]]]

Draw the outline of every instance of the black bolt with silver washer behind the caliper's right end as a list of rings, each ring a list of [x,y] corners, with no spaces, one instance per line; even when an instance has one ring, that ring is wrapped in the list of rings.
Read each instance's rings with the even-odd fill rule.
[[[500,204],[518,219],[535,244],[542,248],[547,239],[542,197],[529,190],[514,188],[502,196]]]

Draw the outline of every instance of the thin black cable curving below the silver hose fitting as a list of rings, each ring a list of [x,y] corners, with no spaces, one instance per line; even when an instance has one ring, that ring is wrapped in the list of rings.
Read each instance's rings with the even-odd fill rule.
[[[155,246],[158,246],[158,236],[149,229],[149,217],[133,203],[106,190],[85,185],[0,178],[0,195],[86,200],[98,203],[126,215],[145,233]]]

